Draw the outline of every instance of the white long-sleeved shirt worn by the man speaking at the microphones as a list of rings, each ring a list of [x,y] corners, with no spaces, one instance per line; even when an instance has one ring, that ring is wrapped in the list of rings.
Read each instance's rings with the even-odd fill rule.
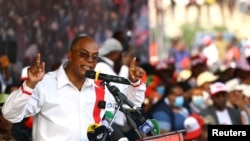
[[[47,73],[34,89],[24,82],[23,89],[32,94],[24,94],[19,88],[11,93],[3,106],[4,117],[13,123],[34,116],[33,141],[87,141],[87,128],[95,123],[94,105],[100,94],[96,94],[94,80],[86,79],[79,91],[69,81],[63,65]],[[139,105],[145,90],[145,84],[129,86],[127,97]],[[105,89],[104,100],[110,101],[110,95]],[[100,118],[104,113],[101,109]]]

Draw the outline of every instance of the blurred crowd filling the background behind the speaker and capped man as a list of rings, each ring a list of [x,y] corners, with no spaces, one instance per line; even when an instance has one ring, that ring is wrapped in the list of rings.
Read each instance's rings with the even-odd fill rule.
[[[100,46],[121,37],[124,53],[146,70],[143,110],[162,133],[196,127],[187,140],[203,139],[205,124],[250,124],[250,0],[0,0],[0,7],[2,93],[19,86],[37,52],[50,71],[80,34]]]

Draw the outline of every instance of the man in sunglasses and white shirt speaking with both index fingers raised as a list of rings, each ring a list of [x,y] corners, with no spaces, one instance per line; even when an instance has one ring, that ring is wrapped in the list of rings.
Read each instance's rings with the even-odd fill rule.
[[[68,61],[52,72],[45,73],[41,55],[28,69],[28,78],[12,92],[3,106],[4,118],[12,123],[33,116],[33,141],[87,141],[90,124],[100,124],[106,109],[99,101],[109,101],[108,89],[100,80],[87,78],[99,60],[99,47],[89,36],[76,37],[67,52]],[[141,82],[145,71],[133,58],[128,79],[131,83],[121,90],[135,105],[141,106],[146,85]]]

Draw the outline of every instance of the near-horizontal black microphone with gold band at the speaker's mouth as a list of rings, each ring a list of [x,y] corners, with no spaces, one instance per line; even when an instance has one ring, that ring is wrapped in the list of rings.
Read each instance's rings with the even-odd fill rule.
[[[120,83],[120,84],[130,85],[130,82],[128,81],[128,79],[126,79],[124,77],[119,77],[119,76],[115,76],[115,75],[108,75],[108,74],[103,74],[103,73],[96,73],[93,70],[87,70],[85,73],[85,76],[87,78],[91,78],[91,79],[99,79],[99,80],[103,80],[106,82],[116,82],[116,83]]]

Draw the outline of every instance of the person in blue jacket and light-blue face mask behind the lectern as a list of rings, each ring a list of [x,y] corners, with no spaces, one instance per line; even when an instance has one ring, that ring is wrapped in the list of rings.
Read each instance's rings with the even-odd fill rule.
[[[161,133],[181,130],[184,129],[184,120],[189,116],[183,104],[183,89],[176,84],[165,90],[162,98],[152,105],[148,114],[158,121]]]

